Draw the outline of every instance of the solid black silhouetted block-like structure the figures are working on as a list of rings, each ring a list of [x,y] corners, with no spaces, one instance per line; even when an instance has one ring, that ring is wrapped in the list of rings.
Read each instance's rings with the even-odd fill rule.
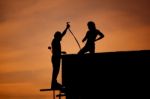
[[[143,97],[149,66],[149,50],[63,55],[66,99]]]

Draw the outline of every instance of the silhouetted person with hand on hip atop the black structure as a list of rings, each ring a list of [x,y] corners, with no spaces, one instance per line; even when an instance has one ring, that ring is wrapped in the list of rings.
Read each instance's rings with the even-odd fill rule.
[[[91,54],[95,53],[95,41],[100,40],[104,37],[104,34],[96,29],[95,23],[93,21],[89,21],[87,23],[87,26],[89,30],[82,40],[82,42],[86,41],[86,44],[78,52],[78,54],[85,54],[86,52],[89,52]]]

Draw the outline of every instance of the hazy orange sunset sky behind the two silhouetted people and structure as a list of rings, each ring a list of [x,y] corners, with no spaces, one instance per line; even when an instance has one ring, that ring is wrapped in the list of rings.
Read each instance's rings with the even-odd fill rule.
[[[150,50],[150,0],[0,0],[0,99],[52,99],[51,52],[56,31],[66,22],[81,47],[94,21],[104,35],[96,53]],[[62,50],[76,54],[68,31]],[[61,81],[59,75],[59,81]]]

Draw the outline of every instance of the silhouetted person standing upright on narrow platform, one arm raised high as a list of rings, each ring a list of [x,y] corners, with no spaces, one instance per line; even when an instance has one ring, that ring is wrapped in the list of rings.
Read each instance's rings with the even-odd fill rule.
[[[70,25],[67,24],[65,30],[61,33],[59,31],[55,32],[54,39],[52,40],[51,47],[52,47],[52,65],[53,65],[53,71],[52,71],[52,82],[51,82],[51,89],[60,89],[62,85],[57,82],[57,76],[60,70],[60,60],[61,60],[61,40],[64,37],[64,35],[67,32],[67,29],[69,29]],[[48,49],[51,49],[50,46],[48,46]]]

